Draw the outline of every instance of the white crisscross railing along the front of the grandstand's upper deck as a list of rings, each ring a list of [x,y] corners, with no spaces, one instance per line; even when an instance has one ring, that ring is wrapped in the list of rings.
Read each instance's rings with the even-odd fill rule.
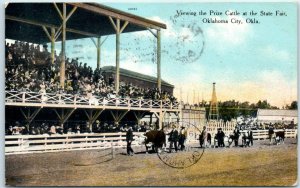
[[[5,103],[8,105],[43,105],[43,106],[76,106],[76,107],[126,107],[126,108],[160,108],[180,110],[179,102],[131,98],[107,98],[72,94],[38,93],[5,91]]]

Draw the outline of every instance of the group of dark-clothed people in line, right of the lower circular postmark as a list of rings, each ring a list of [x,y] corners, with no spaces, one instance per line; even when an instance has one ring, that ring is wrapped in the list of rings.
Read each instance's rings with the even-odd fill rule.
[[[253,146],[253,132],[249,128],[246,131],[240,132],[239,128],[236,126],[233,132],[228,135],[228,144],[229,146],[234,142],[234,146],[238,147],[239,146],[239,139],[240,136],[242,136],[242,146]],[[214,141],[217,143],[214,146],[218,147],[225,147],[224,139],[226,135],[223,132],[222,128],[217,129],[217,133],[214,136]],[[200,147],[209,147],[211,145],[211,134],[207,132],[206,126],[203,126],[203,130],[201,131],[201,134],[199,135],[199,142],[200,142]]]

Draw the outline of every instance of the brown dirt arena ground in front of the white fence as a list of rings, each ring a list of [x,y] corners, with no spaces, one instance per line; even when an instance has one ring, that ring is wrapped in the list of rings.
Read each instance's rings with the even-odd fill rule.
[[[209,148],[193,166],[171,168],[156,154],[125,155],[117,149],[9,155],[10,186],[292,186],[297,183],[297,144],[269,146],[255,141],[250,148]],[[193,150],[199,148],[193,148]],[[180,153],[177,153],[180,155]]]

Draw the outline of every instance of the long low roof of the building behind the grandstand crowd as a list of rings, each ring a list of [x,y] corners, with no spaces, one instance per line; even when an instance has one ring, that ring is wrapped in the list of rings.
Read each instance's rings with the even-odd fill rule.
[[[105,71],[107,73],[115,73],[116,71],[116,68],[114,66],[104,66],[104,67],[101,67],[102,71]],[[145,74],[141,74],[141,73],[138,73],[138,72],[134,72],[134,71],[131,71],[131,70],[127,70],[127,69],[122,69],[120,68],[120,75],[122,76],[128,76],[128,77],[131,77],[131,78],[135,78],[135,79],[139,79],[139,80],[144,80],[144,81],[148,81],[148,82],[153,82],[153,83],[156,83],[157,82],[157,78],[156,77],[153,77],[153,76],[149,76],[149,75],[145,75]],[[172,87],[174,88],[174,85],[162,80],[162,85],[164,86],[168,86],[168,87]]]

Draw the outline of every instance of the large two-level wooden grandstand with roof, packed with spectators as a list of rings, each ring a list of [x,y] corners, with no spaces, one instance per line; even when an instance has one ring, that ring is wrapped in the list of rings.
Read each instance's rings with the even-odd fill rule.
[[[180,111],[172,96],[174,87],[161,80],[160,30],[165,24],[94,3],[9,3],[5,14],[5,37],[15,40],[5,48],[7,133],[20,128],[14,133],[42,134],[51,127],[62,134],[119,131],[121,125],[139,122],[146,114],[154,114],[156,128],[162,128],[166,112]],[[131,74],[127,80],[119,68],[121,33],[142,30],[157,38],[157,82],[154,85],[151,77],[147,89],[128,82],[137,83],[139,78],[134,80],[133,75],[141,74],[125,71]],[[65,56],[68,40],[97,38],[100,50],[101,37],[111,34],[116,34],[116,66],[110,80],[102,74],[99,57],[93,70]],[[50,50],[42,45],[49,41]],[[57,41],[62,45],[59,55],[54,51]]]

